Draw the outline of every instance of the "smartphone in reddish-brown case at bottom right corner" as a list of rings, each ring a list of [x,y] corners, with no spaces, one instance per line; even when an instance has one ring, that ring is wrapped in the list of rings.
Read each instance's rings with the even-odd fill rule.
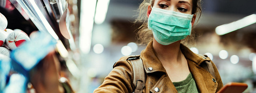
[[[242,93],[247,87],[248,85],[245,83],[228,83],[217,93]]]

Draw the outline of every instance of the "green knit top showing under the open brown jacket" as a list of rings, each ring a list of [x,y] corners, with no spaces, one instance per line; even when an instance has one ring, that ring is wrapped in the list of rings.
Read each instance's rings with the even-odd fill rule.
[[[180,82],[173,82],[178,93],[199,93],[197,90],[196,82],[191,73],[188,74],[185,80]]]

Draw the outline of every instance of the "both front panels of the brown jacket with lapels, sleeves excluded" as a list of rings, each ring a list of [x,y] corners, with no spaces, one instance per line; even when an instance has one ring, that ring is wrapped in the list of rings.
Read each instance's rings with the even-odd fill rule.
[[[141,51],[141,59],[143,61],[146,72],[146,90],[145,92],[155,93],[155,88],[159,88],[159,92],[168,91],[169,93],[177,93],[176,88],[166,74],[160,60],[155,55],[152,41],[148,43],[146,49]],[[217,82],[213,82],[213,76],[199,65],[204,61],[210,61],[198,54],[193,53],[189,48],[180,45],[180,49],[187,59],[188,67],[193,75],[197,88],[200,93],[215,93]],[[150,69],[149,69],[150,68]],[[152,70],[151,70],[152,69]]]

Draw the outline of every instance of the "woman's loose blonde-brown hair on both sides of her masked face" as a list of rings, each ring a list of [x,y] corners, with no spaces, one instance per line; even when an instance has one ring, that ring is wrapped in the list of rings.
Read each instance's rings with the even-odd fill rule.
[[[153,33],[150,29],[147,27],[147,8],[148,5],[153,6],[155,0],[143,0],[143,2],[140,4],[137,12],[138,12],[138,17],[134,21],[134,23],[142,23],[142,25],[136,30],[137,32],[137,43],[139,45],[145,45],[148,42],[153,40]],[[201,10],[201,0],[192,0],[193,2],[193,9],[192,9],[192,14],[200,14],[202,13]],[[199,18],[200,18],[199,16]],[[199,19],[198,19],[199,20]],[[195,25],[195,24],[194,24]],[[192,30],[194,30],[194,27]],[[188,44],[195,44],[195,41],[198,38],[198,34],[195,31],[191,32],[190,36],[187,36],[185,39],[181,41],[181,43],[188,45]]]

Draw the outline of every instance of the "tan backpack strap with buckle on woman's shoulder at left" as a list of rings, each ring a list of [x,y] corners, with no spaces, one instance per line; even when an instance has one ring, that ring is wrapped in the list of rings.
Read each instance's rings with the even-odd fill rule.
[[[132,64],[133,71],[133,93],[142,93],[142,90],[145,86],[146,76],[144,71],[144,66],[140,57],[129,58],[127,59]]]

